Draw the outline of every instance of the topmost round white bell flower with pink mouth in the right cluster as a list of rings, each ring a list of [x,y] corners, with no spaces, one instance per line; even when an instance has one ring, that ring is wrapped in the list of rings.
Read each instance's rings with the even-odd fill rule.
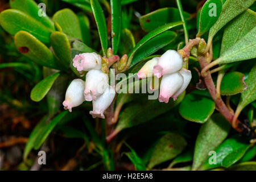
[[[166,51],[154,67],[154,75],[158,78],[164,74],[175,73],[182,68],[182,56],[174,50]]]

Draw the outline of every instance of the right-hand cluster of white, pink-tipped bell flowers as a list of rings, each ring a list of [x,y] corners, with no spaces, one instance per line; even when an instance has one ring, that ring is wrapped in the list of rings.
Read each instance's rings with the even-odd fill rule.
[[[168,50],[161,57],[147,61],[137,75],[139,78],[154,76],[151,79],[162,77],[159,101],[168,103],[170,97],[176,100],[191,81],[191,71],[182,65],[182,56],[177,51]]]

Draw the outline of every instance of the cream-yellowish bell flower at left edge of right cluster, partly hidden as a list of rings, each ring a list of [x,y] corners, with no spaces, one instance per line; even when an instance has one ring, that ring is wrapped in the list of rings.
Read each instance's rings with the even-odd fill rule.
[[[153,59],[147,61],[143,65],[143,67],[139,70],[137,73],[139,78],[146,78],[146,77],[152,77],[153,75],[153,69],[156,64],[158,64],[159,57],[154,57]]]

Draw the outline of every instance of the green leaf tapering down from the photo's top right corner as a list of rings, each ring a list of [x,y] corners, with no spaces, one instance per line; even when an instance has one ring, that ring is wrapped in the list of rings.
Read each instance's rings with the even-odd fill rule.
[[[227,0],[222,6],[220,17],[209,31],[208,43],[212,42],[214,35],[230,20],[250,7],[255,0]]]

